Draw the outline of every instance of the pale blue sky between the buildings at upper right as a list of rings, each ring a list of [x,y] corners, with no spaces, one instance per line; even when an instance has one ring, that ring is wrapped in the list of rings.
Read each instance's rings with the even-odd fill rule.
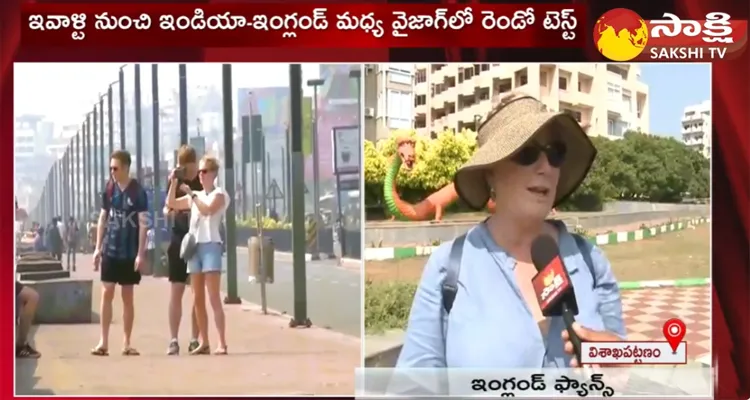
[[[641,64],[641,80],[649,86],[650,133],[679,139],[685,107],[711,98],[710,64]]]

